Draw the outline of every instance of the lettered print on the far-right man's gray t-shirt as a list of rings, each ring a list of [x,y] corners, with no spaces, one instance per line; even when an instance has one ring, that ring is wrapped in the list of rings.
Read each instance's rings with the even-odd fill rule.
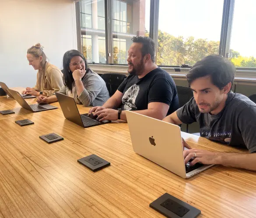
[[[210,128],[204,127],[203,129],[200,129],[200,135],[209,140],[219,141],[221,143],[227,143],[227,144],[231,140],[231,130],[223,131],[221,127],[218,128],[217,131],[214,133],[210,132]]]

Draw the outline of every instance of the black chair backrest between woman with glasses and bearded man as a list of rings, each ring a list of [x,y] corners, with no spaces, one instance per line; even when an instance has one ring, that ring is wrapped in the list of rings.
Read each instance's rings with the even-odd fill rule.
[[[125,78],[126,75],[120,73],[105,73],[102,75],[102,79],[106,83],[110,96],[114,95]]]

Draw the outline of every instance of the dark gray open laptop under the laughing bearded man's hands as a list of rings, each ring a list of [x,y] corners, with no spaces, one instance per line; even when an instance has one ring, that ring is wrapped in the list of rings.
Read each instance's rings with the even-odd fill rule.
[[[111,122],[110,120],[104,120],[100,122],[96,119],[97,116],[93,116],[93,114],[90,116],[88,116],[88,113],[80,115],[74,98],[60,94],[58,92],[55,92],[55,94],[60,103],[60,108],[62,109],[65,118],[71,122],[76,123],[77,125],[84,128]]]

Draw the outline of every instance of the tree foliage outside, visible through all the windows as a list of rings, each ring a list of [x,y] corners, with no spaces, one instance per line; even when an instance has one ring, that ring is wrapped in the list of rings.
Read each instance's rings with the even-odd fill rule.
[[[149,37],[149,32],[145,31],[145,36]],[[207,41],[207,39],[195,39],[190,36],[184,40],[183,36],[175,37],[166,32],[158,30],[158,65],[182,65],[192,66],[196,61],[200,61],[207,55],[219,53],[219,41]],[[91,46],[83,46],[83,54],[88,62],[92,61]],[[256,68],[256,59],[242,57],[238,51],[230,50],[230,60],[236,67]],[[105,51],[99,51],[100,62],[105,62]],[[113,48],[114,64],[126,64],[127,52]],[[102,61],[101,61],[102,60]]]

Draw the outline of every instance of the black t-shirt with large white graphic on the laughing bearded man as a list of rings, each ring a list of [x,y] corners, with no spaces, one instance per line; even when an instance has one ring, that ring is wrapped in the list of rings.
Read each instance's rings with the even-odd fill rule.
[[[159,67],[140,79],[136,75],[129,75],[118,91],[123,93],[122,110],[145,110],[151,102],[169,105],[167,115],[179,108],[175,83],[172,77]]]

